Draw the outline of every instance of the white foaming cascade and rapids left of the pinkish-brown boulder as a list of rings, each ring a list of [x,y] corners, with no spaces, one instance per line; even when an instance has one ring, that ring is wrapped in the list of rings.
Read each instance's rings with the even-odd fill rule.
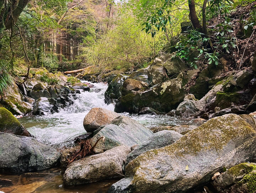
[[[42,143],[56,147],[72,146],[72,139],[86,133],[83,128],[83,119],[92,108],[101,107],[114,111],[114,104],[104,103],[104,93],[108,85],[90,84],[95,88],[90,92],[81,91],[81,94],[77,94],[74,104],[62,109],[59,113],[24,117],[20,122]]]

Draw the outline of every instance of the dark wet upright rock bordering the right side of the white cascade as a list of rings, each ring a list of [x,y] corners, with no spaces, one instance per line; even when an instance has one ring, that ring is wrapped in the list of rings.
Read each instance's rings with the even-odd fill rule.
[[[108,89],[105,92],[105,103],[110,104],[111,102],[115,101],[116,99],[121,97],[121,88],[123,85],[124,80],[127,76],[122,74],[118,74],[109,84]]]

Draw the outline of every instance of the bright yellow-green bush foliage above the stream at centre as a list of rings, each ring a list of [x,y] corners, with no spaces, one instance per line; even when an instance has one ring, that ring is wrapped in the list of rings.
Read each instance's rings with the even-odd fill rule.
[[[158,41],[158,39],[155,39]],[[129,10],[118,13],[115,27],[101,35],[92,46],[84,47],[83,57],[102,72],[138,68],[157,52],[154,39],[141,31]]]

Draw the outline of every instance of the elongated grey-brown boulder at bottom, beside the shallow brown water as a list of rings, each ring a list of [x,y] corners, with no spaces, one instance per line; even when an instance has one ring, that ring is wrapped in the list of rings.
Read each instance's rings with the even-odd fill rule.
[[[102,154],[89,156],[73,162],[63,176],[66,185],[85,184],[122,177],[122,165],[130,147],[119,146]]]

